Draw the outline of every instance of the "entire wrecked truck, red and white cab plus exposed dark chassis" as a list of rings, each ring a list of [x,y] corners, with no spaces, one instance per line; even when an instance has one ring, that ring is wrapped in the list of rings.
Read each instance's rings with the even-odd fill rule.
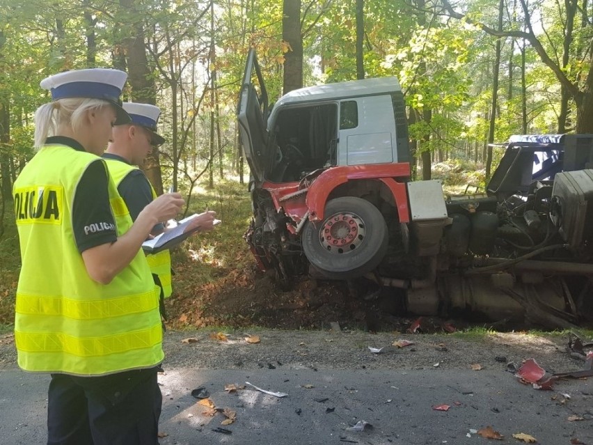
[[[512,136],[483,194],[410,180],[394,77],[291,91],[268,107],[252,50],[239,97],[246,240],[280,286],[365,276],[420,315],[571,327],[590,312],[593,134]]]

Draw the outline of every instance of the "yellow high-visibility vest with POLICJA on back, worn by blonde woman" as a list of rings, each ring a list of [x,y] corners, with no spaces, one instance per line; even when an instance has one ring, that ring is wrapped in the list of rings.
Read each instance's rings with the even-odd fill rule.
[[[77,249],[72,203],[97,156],[46,145],[15,181],[22,268],[15,304],[15,344],[24,370],[90,376],[152,368],[164,358],[158,288],[139,249],[107,285],[90,278]],[[105,167],[106,168],[106,167]],[[109,180],[118,236],[132,226]],[[91,224],[102,230],[109,223]]]

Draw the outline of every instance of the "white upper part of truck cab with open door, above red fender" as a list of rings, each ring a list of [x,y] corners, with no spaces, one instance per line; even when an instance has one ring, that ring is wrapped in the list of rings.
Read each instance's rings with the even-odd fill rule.
[[[256,182],[292,182],[329,166],[409,162],[405,102],[395,77],[300,88],[269,109],[252,49],[238,119]]]

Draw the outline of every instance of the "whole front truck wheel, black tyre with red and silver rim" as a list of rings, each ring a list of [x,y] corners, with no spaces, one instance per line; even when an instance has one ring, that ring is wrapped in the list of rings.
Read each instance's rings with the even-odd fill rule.
[[[355,278],[381,263],[388,244],[385,219],[370,202],[354,196],[335,198],[325,219],[307,221],[302,244],[307,259],[329,278]]]

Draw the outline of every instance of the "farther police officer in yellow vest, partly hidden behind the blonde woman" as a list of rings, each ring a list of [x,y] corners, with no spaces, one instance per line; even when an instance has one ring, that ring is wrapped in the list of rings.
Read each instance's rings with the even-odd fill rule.
[[[124,102],[123,109],[127,111],[131,123],[117,125],[113,128],[113,139],[103,155],[111,177],[116,182],[118,192],[129,209],[132,221],[137,215],[157,197],[148,178],[138,166],[142,165],[145,157],[153,147],[160,146],[165,139],[157,134],[157,121],[161,114],[159,107],[139,102]],[[213,228],[214,212],[205,212],[191,220],[191,227],[200,231]],[[166,230],[164,224],[159,223],[152,229],[152,235],[158,235]],[[155,282],[161,288],[161,297],[171,296],[171,255],[168,250],[150,254],[147,257]],[[161,311],[164,315],[164,305],[161,300]]]

